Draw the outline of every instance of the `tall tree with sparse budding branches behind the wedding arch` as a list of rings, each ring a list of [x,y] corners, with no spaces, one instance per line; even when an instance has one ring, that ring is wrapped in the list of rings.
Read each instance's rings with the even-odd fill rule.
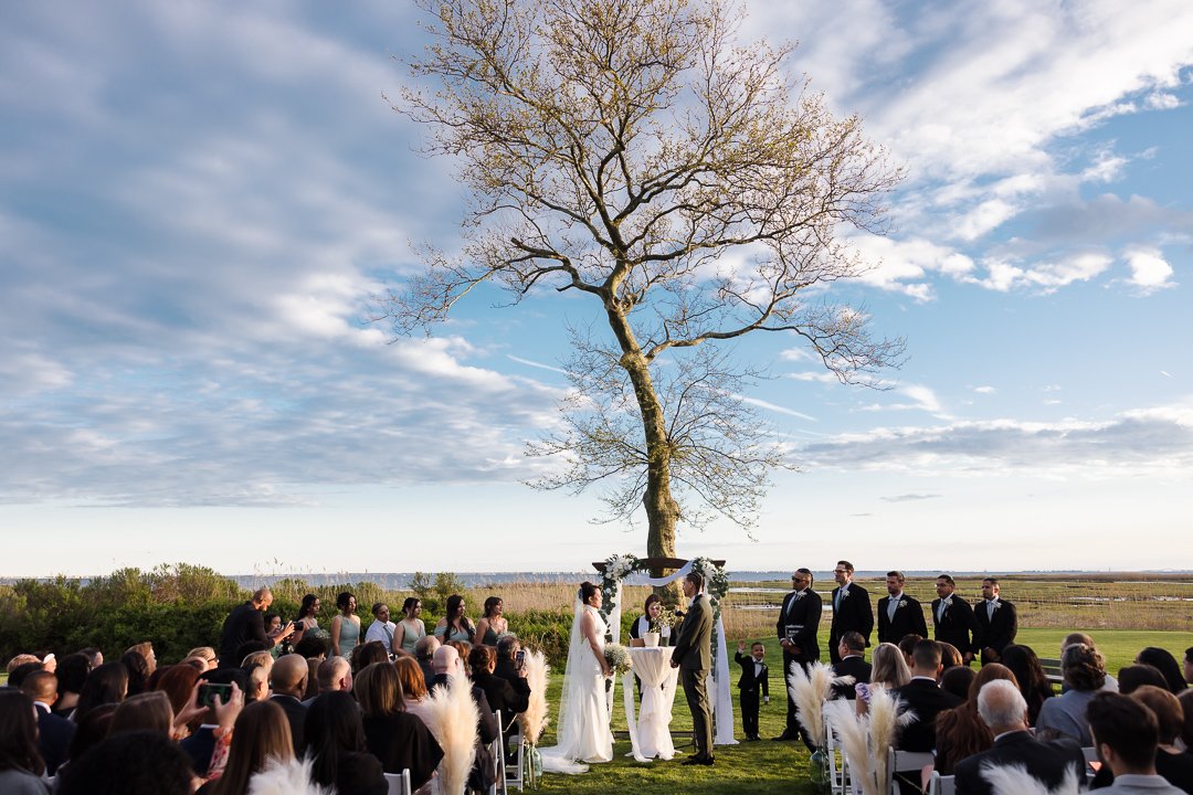
[[[824,293],[861,273],[837,231],[884,231],[898,172],[857,117],[791,83],[793,48],[735,45],[740,13],[721,0],[421,2],[432,44],[410,66],[437,89],[395,110],[457,160],[472,204],[462,250],[428,250],[381,317],[427,328],[484,281],[514,303],[592,296],[611,340],[577,347],[579,411],[534,448],[571,466],[542,485],[628,478],[607,499],[614,515],[641,501],[650,555],[675,554],[675,489],[748,524],[780,452],[741,373],[684,350],[784,331],[846,383],[897,365],[901,340]]]

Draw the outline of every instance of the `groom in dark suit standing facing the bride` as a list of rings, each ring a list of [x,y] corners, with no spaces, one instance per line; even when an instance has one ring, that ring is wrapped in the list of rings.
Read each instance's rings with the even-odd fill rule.
[[[691,605],[672,651],[672,667],[679,669],[687,707],[692,710],[692,734],[696,738],[696,756],[685,759],[686,765],[712,764],[712,715],[705,687],[712,669],[712,605],[709,597],[700,592],[703,589],[704,577],[700,574],[691,572],[684,578],[684,596],[691,600]]]

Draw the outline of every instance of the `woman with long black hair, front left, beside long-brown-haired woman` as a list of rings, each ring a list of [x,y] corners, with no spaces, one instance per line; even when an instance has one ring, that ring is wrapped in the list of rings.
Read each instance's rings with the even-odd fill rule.
[[[342,659],[342,658],[341,658]],[[324,692],[311,702],[303,725],[304,752],[314,759],[311,780],[353,795],[385,795],[381,762],[369,753],[360,708],[347,692]]]

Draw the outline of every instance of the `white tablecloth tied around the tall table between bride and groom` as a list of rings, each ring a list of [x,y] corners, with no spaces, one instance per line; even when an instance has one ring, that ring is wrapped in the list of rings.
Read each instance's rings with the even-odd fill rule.
[[[670,666],[670,647],[630,648],[633,670],[622,679],[625,722],[630,729],[631,756],[638,762],[659,757],[670,759],[675,746],[670,739],[670,710],[675,701],[679,669]],[[633,675],[642,679],[642,706],[635,716]]]

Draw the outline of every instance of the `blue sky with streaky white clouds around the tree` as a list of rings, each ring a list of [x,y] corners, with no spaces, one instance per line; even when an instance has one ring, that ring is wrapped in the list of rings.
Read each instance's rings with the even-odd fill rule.
[[[778,4],[774,4],[778,5]],[[837,297],[910,359],[874,391],[736,355],[799,473],[735,569],[1188,569],[1193,5],[748,2],[746,38],[908,178]],[[395,114],[409,4],[0,8],[0,574],[576,570],[644,551],[533,491],[563,321],[481,294],[390,341],[370,296],[464,195]]]

